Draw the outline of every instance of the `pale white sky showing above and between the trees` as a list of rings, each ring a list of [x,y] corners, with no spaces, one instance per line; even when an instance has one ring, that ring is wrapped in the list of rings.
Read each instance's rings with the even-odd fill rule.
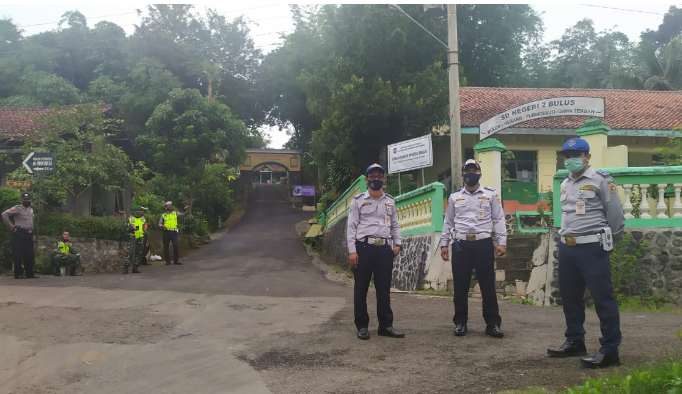
[[[682,2],[682,0],[680,0]],[[1,0],[0,0],[1,2]],[[480,3],[477,1],[476,3]],[[488,2],[488,1],[482,1]],[[121,26],[127,34],[132,34],[135,24],[139,23],[136,10],[144,9],[143,3],[127,3],[119,1],[109,4],[0,4],[0,18],[10,17],[24,30],[24,35],[32,35],[58,27],[61,15],[67,11],[78,10],[88,19],[89,25],[107,20]],[[388,3],[386,3],[388,4]],[[646,30],[655,30],[663,21],[663,15],[672,4],[626,4],[620,1],[599,1],[589,4],[532,4],[541,15],[546,42],[559,39],[566,29],[576,22],[590,18],[597,31],[614,29],[625,33],[631,40],[637,41],[639,34]],[[677,4],[678,7],[682,4]],[[264,53],[270,52],[281,44],[280,35],[293,31],[293,21],[289,6],[286,3],[223,2],[199,3],[196,10],[202,13],[206,8],[216,9],[228,19],[239,15],[246,16],[251,22],[251,36],[257,47]],[[424,33],[426,34],[426,33]],[[447,37],[442,39],[445,41]],[[270,148],[281,148],[289,137],[284,131],[265,130],[272,142]]]

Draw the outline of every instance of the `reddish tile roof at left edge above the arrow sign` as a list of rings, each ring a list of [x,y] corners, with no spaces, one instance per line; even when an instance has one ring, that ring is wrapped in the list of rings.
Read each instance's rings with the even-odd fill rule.
[[[105,104],[102,111],[108,112],[111,108],[111,104]],[[47,127],[35,118],[52,112],[50,107],[0,107],[0,139],[24,141],[26,136]]]

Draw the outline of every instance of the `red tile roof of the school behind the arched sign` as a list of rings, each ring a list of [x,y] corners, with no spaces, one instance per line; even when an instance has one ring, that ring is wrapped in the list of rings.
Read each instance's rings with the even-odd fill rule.
[[[682,125],[682,91],[462,87],[462,127],[478,127],[493,116],[521,104],[562,96],[603,97],[606,104],[603,121],[612,129],[671,130]],[[589,118],[558,116],[533,119],[514,127],[577,129]]]

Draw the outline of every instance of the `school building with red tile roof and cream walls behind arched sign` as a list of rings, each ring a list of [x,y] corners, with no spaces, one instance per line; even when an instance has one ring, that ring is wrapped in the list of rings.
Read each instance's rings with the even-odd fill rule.
[[[603,98],[605,116],[587,125],[590,116],[533,119],[497,132],[481,143],[479,125],[486,120],[519,105],[553,97]],[[481,161],[482,183],[501,186],[505,212],[533,211],[538,201],[546,200],[543,193],[552,188],[556,171],[564,168],[559,151],[571,137],[588,139],[596,167],[648,167],[656,164],[655,149],[665,146],[674,135],[673,129],[682,125],[680,91],[463,87],[460,107],[462,157]],[[581,126],[582,132],[577,132]],[[425,183],[439,181],[449,187],[450,137],[433,138],[433,166],[424,169]],[[485,162],[485,152],[502,149],[512,151],[514,159]],[[508,173],[506,177],[498,171],[497,167],[502,166]],[[486,174],[486,169],[491,168],[495,171]],[[491,172],[504,179],[491,180]],[[421,185],[421,176],[418,179]]]

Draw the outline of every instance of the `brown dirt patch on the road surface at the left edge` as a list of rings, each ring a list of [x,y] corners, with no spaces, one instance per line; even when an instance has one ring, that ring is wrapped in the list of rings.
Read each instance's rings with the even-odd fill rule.
[[[156,343],[169,339],[177,325],[171,316],[141,308],[92,310],[82,308],[27,308],[0,305],[0,332],[40,347],[80,342],[112,344]]]

